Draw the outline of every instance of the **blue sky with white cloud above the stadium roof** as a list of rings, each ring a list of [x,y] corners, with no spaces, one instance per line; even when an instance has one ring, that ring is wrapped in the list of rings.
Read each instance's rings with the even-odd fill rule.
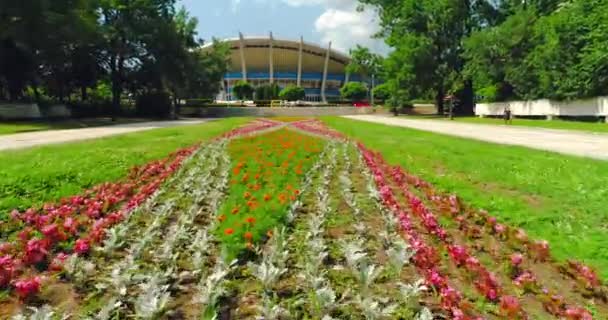
[[[181,0],[199,19],[199,37],[267,35],[298,39],[348,51],[356,44],[384,53],[382,40],[371,39],[378,30],[372,10],[356,12],[356,0]]]

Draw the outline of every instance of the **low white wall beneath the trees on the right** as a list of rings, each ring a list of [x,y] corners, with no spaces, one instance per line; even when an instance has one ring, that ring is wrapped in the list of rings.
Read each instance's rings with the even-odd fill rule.
[[[511,101],[498,103],[478,103],[475,114],[478,116],[500,116],[506,107],[515,116],[546,117],[608,117],[608,97],[598,97],[573,101]]]

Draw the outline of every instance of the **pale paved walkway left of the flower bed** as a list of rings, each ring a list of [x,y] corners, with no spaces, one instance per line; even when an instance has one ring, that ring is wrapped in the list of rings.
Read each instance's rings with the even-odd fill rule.
[[[48,130],[27,133],[17,133],[0,136],[0,150],[22,149],[38,145],[72,142],[79,140],[95,139],[117,134],[183,126],[209,121],[209,119],[192,119],[177,121],[152,121],[140,123],[118,124],[105,127]]]

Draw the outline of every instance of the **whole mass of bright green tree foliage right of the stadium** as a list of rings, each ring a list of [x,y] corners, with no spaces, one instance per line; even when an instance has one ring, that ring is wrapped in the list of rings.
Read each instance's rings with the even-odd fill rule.
[[[488,101],[608,93],[608,0],[359,0],[392,48],[393,98]],[[457,110],[458,111],[458,110]]]

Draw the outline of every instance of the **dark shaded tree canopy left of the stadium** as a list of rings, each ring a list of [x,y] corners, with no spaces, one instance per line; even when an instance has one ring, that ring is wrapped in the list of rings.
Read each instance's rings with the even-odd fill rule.
[[[0,0],[0,99],[211,96],[228,50],[198,50],[197,25],[175,0]]]

